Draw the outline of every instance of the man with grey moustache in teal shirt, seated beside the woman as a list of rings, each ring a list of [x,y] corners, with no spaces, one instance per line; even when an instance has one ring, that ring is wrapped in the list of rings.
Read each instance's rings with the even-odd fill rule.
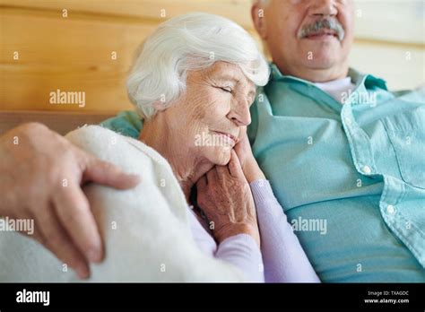
[[[322,281],[424,282],[424,100],[349,68],[353,12],[351,0],[253,4],[273,63],[248,134]],[[142,127],[134,113],[103,125]]]

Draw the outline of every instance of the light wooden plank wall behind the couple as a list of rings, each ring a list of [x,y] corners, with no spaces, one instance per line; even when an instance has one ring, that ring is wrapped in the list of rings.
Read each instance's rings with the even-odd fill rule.
[[[227,16],[255,34],[250,3],[250,0],[0,0],[0,110],[116,112],[131,108],[125,79],[134,49],[160,22],[180,13],[204,11]],[[425,83],[423,29],[415,27],[416,32],[409,32],[409,25],[414,27],[412,18],[406,18],[410,21],[407,25],[410,37],[405,35],[407,32],[388,31],[395,27],[391,24],[378,31],[369,29],[368,23],[377,21],[377,14],[370,14],[377,5],[370,7],[370,2],[361,1],[358,5],[361,16],[358,16],[359,32],[351,64],[384,75],[395,89]],[[421,22],[419,25],[423,26],[423,16]],[[388,37],[388,32],[393,37]],[[85,107],[50,104],[49,94],[57,89],[84,91]]]

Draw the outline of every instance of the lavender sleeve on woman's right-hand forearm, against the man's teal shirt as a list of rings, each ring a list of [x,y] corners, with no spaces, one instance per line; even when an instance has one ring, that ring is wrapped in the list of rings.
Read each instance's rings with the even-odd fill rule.
[[[267,180],[250,184],[256,203],[265,282],[320,282]]]

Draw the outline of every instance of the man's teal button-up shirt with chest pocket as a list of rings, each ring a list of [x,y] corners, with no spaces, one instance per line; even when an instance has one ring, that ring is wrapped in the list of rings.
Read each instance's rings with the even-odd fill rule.
[[[253,152],[323,282],[425,282],[425,100],[349,75],[342,105],[272,65]],[[142,123],[125,112],[103,126],[136,137]]]

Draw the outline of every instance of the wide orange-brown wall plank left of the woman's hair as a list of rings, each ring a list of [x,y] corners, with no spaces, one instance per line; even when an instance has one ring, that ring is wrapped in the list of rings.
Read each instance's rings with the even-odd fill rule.
[[[0,109],[131,108],[126,75],[151,23],[63,19],[4,10],[1,16]],[[13,52],[19,52],[19,60]],[[117,59],[111,53],[117,53]],[[49,104],[51,91],[84,91],[86,106]]]

